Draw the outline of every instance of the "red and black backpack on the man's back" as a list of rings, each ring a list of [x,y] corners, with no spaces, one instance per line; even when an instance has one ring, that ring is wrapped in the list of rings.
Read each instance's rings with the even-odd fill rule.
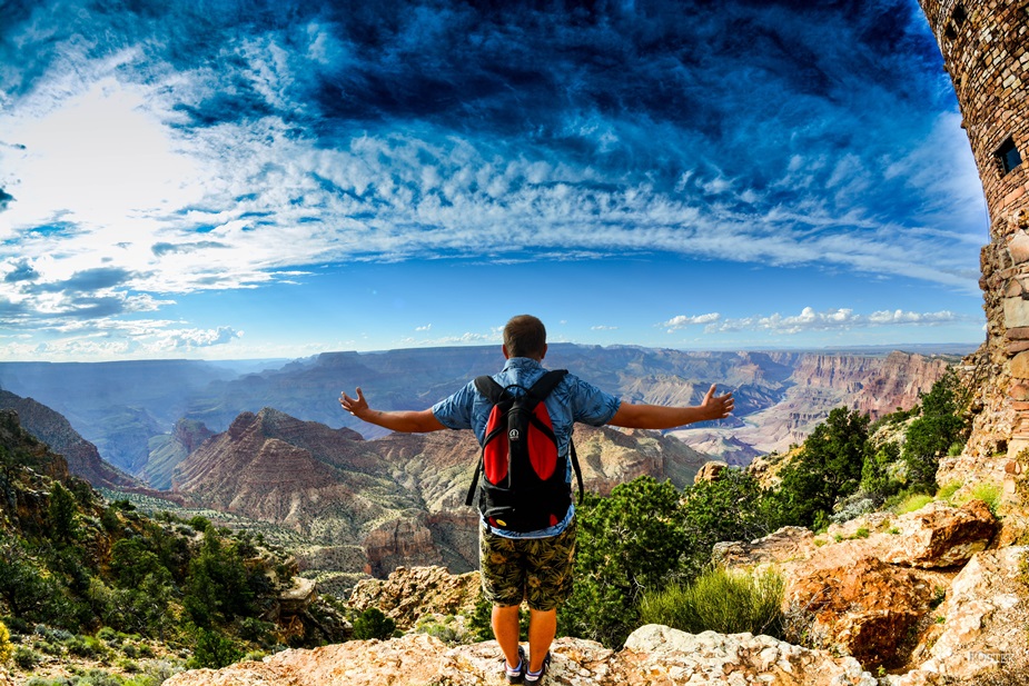
[[[543,402],[566,374],[566,369],[547,371],[531,388],[503,387],[488,376],[475,379],[475,388],[493,409],[465,504],[473,504],[477,486],[478,509],[492,527],[538,531],[558,524],[568,513],[567,457],[557,454],[554,426]],[[514,395],[512,388],[525,392]],[[583,477],[574,444],[570,453],[582,500]]]

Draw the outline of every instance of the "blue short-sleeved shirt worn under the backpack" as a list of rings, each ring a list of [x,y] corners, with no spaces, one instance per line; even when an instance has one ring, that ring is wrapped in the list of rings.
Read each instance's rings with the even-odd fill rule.
[[[543,365],[527,357],[512,357],[504,365],[503,371],[495,374],[493,378],[501,386],[517,384],[528,388],[546,372]],[[520,394],[518,389],[512,389],[512,392]],[[544,400],[546,411],[551,416],[554,425],[554,436],[557,438],[557,454],[567,456],[568,446],[572,443],[572,429],[576,421],[588,424],[591,426],[603,426],[611,421],[619,406],[622,404],[621,398],[609,395],[592,384],[586,384],[578,377],[570,374],[562,379],[561,384]],[[449,398],[445,398],[433,406],[433,415],[439,420],[439,424],[449,429],[472,429],[478,443],[483,443],[486,436],[486,421],[489,419],[489,411],[493,405],[489,400],[475,389],[475,382],[469,381],[467,386],[455,392]],[[566,478],[572,483],[572,460],[567,460],[568,470]],[[541,529],[538,531],[517,533],[504,529],[493,529],[499,536],[506,538],[546,538],[556,536],[564,531],[572,517],[575,515],[575,505],[568,508],[568,514],[564,520],[554,526]]]

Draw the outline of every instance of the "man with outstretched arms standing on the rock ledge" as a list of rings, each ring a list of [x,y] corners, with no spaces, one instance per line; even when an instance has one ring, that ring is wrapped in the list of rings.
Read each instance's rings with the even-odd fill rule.
[[[546,374],[546,329],[531,315],[520,315],[504,327],[504,369],[493,376],[499,387],[517,394],[531,388]],[[567,459],[572,428],[576,421],[591,426],[611,425],[636,429],[674,427],[722,419],[733,409],[732,394],[714,395],[712,386],[697,406],[664,407],[633,405],[609,395],[572,374],[565,375],[543,400],[553,426],[558,455],[564,457],[566,481],[571,488],[572,465]],[[439,429],[472,429],[483,444],[493,401],[476,384],[441,400],[429,409],[383,411],[368,406],[360,388],[356,398],[344,392],[345,410],[370,424],[394,431],[424,433]],[[481,514],[482,517],[482,514]],[[495,520],[482,517],[479,565],[483,590],[493,603],[493,633],[504,653],[509,684],[540,683],[550,665],[550,647],[557,628],[557,607],[572,593],[575,555],[575,507],[570,504],[561,520],[538,530],[506,530]],[[530,607],[528,656],[518,645],[518,608]]]

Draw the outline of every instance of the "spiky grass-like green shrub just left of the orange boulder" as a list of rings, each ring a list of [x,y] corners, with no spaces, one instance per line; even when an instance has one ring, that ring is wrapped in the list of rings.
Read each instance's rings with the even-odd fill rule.
[[[782,637],[782,597],[785,583],[776,571],[756,575],[716,567],[687,586],[672,584],[645,594],[641,616],[646,624],[663,624],[691,634],[768,634]]]

